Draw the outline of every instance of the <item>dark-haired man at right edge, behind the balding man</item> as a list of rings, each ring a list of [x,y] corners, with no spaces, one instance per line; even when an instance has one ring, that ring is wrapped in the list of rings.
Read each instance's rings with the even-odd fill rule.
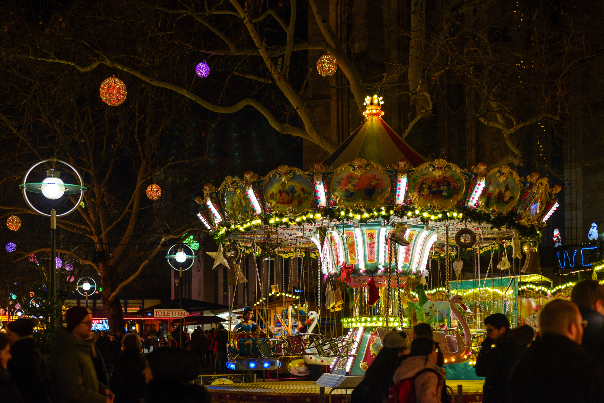
[[[579,306],[579,312],[587,322],[581,346],[596,360],[604,361],[604,285],[597,280],[578,282],[570,300]]]

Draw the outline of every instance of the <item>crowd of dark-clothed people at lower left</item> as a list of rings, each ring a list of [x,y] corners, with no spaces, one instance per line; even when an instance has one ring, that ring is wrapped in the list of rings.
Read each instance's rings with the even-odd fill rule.
[[[48,360],[33,337],[37,319],[14,320],[0,332],[2,403],[210,403],[207,390],[191,383],[210,349],[201,328],[187,340],[199,350],[159,347],[143,354],[135,332],[93,332],[83,306],[69,308],[65,322],[50,338]]]

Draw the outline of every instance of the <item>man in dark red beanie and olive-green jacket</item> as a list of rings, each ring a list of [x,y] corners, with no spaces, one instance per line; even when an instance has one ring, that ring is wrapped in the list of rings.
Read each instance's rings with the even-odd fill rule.
[[[97,379],[90,356],[92,314],[83,306],[65,313],[67,326],[50,338],[51,398],[54,403],[111,403],[114,394]]]

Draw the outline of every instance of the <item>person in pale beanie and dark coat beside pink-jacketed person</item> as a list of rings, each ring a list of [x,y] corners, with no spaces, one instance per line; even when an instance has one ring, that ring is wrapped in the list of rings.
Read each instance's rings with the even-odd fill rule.
[[[388,401],[388,389],[393,386],[392,377],[400,362],[409,354],[409,343],[405,332],[388,332],[382,340],[382,349],[365,371],[365,378],[353,390],[353,403]]]

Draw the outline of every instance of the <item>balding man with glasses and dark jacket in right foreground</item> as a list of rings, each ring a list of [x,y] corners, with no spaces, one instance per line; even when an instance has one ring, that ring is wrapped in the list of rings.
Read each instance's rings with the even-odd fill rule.
[[[602,364],[583,347],[583,318],[573,302],[554,299],[541,309],[539,336],[512,369],[514,403],[603,402]]]

